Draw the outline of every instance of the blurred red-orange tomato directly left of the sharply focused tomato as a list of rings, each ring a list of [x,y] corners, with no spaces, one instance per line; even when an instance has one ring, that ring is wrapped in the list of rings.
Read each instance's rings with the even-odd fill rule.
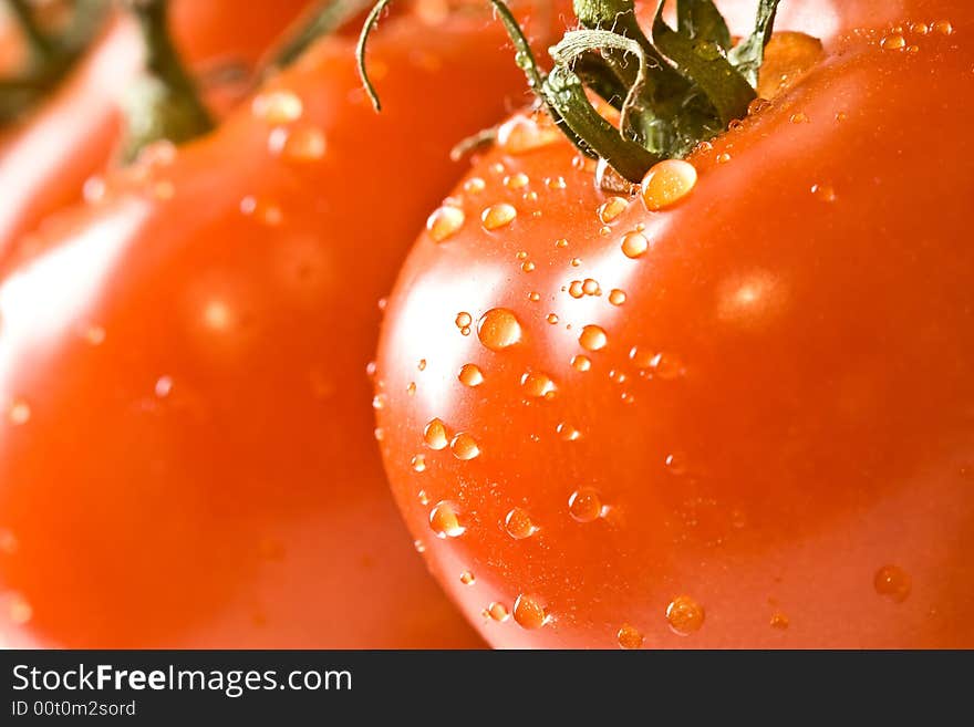
[[[62,216],[0,285],[0,637],[455,647],[366,364],[453,144],[524,81],[488,13],[319,42],[209,137]]]

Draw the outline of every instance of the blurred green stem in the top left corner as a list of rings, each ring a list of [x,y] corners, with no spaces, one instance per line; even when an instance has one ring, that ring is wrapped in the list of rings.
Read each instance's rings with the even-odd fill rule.
[[[77,0],[63,28],[50,29],[27,0],[7,0],[27,42],[22,73],[0,79],[0,124],[21,117],[44,98],[74,66],[102,28],[106,0]]]

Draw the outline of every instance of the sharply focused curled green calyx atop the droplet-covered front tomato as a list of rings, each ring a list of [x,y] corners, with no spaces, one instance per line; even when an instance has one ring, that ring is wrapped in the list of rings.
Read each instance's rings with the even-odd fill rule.
[[[502,0],[490,1],[528,85],[558,127],[631,181],[747,114],[779,2],[759,0],[754,31],[733,45],[713,0],[678,0],[676,29],[663,20],[661,1],[652,39],[636,21],[633,0],[574,0],[582,29],[549,50],[553,67],[546,74]],[[595,110],[590,92],[618,112],[618,128]]]

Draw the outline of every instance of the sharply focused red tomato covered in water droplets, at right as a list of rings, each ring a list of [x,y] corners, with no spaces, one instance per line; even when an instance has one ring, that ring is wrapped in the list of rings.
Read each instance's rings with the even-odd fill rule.
[[[974,12],[846,4],[676,205],[515,117],[431,217],[377,424],[490,644],[974,646]]]

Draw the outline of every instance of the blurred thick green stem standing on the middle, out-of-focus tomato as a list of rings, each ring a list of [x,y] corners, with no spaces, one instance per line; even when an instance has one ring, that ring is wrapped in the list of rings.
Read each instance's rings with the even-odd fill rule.
[[[214,128],[169,37],[167,0],[126,0],[138,21],[145,45],[145,73],[128,89],[124,105],[128,122],[123,158],[132,162],[145,146],[168,139],[182,144]]]

